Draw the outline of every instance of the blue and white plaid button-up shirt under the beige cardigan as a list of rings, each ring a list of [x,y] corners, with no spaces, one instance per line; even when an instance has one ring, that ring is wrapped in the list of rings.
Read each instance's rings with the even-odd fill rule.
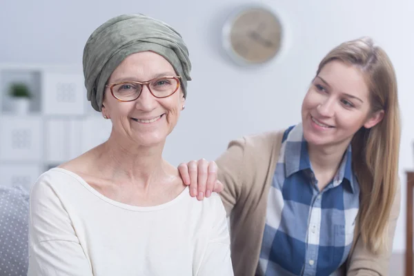
[[[331,275],[348,257],[359,208],[359,184],[348,147],[333,181],[319,191],[302,124],[284,133],[268,194],[257,273]]]

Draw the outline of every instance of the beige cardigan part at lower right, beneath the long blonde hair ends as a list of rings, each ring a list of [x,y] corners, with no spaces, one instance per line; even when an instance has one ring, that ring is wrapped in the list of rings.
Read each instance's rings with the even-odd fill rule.
[[[400,215],[401,186],[398,184],[397,193],[391,208],[390,217],[388,219],[388,239],[387,249],[382,253],[374,254],[364,246],[361,237],[357,237],[357,242],[352,255],[348,259],[348,269],[346,275],[375,275],[385,276],[389,274],[389,263],[393,248],[393,240],[397,219]]]

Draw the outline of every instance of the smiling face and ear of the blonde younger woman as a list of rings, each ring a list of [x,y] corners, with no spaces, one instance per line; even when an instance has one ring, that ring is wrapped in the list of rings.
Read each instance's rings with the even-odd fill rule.
[[[372,128],[384,112],[371,112],[363,73],[342,61],[326,63],[302,103],[304,137],[309,144],[349,144],[355,132]]]

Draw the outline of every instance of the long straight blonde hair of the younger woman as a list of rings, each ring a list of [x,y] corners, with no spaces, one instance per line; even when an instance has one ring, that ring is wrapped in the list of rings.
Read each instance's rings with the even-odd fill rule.
[[[339,60],[364,74],[370,92],[371,112],[384,110],[380,123],[362,127],[352,140],[353,171],[359,182],[359,226],[362,241],[373,253],[386,250],[388,218],[398,181],[400,108],[393,65],[382,48],[369,37],[347,41],[328,53],[317,70]]]

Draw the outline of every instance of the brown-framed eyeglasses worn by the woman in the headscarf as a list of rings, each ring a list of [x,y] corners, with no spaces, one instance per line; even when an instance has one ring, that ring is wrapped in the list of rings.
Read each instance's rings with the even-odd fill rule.
[[[121,81],[109,83],[105,87],[109,87],[112,96],[119,101],[135,101],[141,95],[144,86],[150,90],[152,96],[161,99],[170,97],[178,90],[180,78],[168,76],[149,81]]]

